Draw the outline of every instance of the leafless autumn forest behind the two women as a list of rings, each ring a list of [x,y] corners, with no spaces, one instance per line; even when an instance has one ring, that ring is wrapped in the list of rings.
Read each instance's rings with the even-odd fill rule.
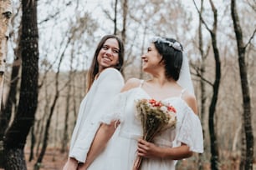
[[[3,13],[8,38],[1,37],[8,51],[0,69],[0,167],[62,168],[97,42],[116,34],[125,42],[125,80],[148,77],[141,54],[155,35],[182,42],[190,59],[205,152],[177,169],[256,169],[255,0],[15,0],[11,6],[1,8],[10,13]]]

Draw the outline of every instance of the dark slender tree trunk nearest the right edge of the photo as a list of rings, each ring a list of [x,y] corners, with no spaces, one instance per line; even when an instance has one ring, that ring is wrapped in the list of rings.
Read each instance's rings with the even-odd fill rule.
[[[251,98],[248,87],[248,77],[247,77],[247,66],[245,63],[245,49],[243,44],[243,32],[239,23],[236,1],[231,1],[231,15],[233,19],[233,28],[236,35],[237,46],[238,46],[238,64],[239,73],[241,78],[241,87],[243,94],[243,128],[245,133],[245,144],[246,144],[246,154],[244,163],[244,169],[253,169],[253,128],[252,128],[252,118],[251,118]]]

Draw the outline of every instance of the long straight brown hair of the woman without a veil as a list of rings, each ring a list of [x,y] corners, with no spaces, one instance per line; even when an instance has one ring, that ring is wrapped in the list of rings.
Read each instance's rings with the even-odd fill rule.
[[[120,40],[119,37],[116,37],[115,35],[105,35],[104,37],[101,38],[96,50],[95,50],[95,55],[93,58],[93,61],[91,62],[89,71],[87,73],[87,87],[86,87],[86,92],[88,92],[90,90],[90,87],[92,85],[92,83],[95,81],[95,76],[96,74],[99,72],[99,63],[97,61],[97,57],[99,55],[100,49],[103,47],[104,43],[106,40],[110,39],[110,38],[115,38],[118,42],[119,45],[119,52],[118,52],[118,64],[115,65],[115,68],[117,70],[120,70],[121,67],[123,66],[124,63],[124,44],[123,42]]]

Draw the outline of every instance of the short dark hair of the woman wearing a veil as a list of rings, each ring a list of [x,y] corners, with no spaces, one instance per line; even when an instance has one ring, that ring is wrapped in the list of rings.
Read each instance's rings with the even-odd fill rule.
[[[177,40],[168,37],[161,37],[168,42],[177,42]],[[183,53],[182,44],[180,44],[181,50],[177,50],[175,47],[170,46],[166,42],[155,41],[156,50],[161,54],[162,58],[160,62],[163,62],[166,70],[166,77],[173,78],[177,81],[180,77]]]

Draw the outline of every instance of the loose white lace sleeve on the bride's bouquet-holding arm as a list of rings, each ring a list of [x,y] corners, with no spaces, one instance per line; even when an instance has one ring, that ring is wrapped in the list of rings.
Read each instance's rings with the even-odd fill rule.
[[[192,152],[203,153],[202,126],[199,117],[190,107],[185,107],[180,127],[177,129],[176,145],[187,144]]]

